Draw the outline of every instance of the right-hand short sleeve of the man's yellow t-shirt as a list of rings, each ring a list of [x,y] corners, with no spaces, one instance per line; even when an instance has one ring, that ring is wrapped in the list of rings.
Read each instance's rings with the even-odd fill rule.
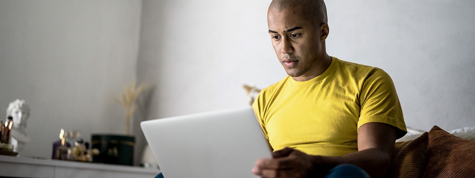
[[[391,77],[375,68],[366,77],[360,93],[358,129],[369,122],[381,122],[399,129],[398,139],[407,133],[396,88]]]

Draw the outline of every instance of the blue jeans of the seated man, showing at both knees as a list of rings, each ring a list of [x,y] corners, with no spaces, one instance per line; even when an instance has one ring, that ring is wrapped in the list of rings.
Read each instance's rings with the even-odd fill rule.
[[[160,173],[155,178],[163,178]],[[340,164],[328,171],[323,178],[371,178],[366,171],[352,164]]]

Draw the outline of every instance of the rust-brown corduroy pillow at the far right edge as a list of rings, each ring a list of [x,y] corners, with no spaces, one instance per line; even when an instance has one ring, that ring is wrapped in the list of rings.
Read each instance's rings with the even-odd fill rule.
[[[475,178],[475,141],[434,126],[429,131],[424,178]]]

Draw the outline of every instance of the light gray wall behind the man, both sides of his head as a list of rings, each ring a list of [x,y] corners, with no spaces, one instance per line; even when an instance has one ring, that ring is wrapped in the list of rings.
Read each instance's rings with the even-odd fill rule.
[[[247,105],[241,84],[286,74],[267,34],[270,0],[144,0],[137,77],[155,119]],[[475,126],[475,1],[327,0],[327,51],[394,80],[409,127]]]

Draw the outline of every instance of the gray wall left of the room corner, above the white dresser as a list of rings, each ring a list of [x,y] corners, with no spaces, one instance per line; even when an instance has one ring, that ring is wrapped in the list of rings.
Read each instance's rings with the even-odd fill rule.
[[[61,128],[124,133],[113,98],[136,79],[141,14],[137,0],[0,0],[0,106],[31,108],[21,155],[50,158]]]

